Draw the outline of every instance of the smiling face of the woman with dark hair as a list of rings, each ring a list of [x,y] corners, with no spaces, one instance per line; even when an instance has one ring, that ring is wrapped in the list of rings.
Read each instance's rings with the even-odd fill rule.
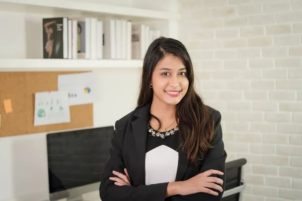
[[[188,91],[189,80],[182,60],[167,54],[158,62],[152,74],[153,100],[177,105]]]

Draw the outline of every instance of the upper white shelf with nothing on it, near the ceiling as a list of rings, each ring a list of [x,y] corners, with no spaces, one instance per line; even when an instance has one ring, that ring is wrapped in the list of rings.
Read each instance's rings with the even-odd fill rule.
[[[0,0],[0,9],[5,6],[21,7],[24,10],[39,11],[48,9],[49,11],[70,11],[70,12],[85,12],[85,14],[95,15],[113,15],[121,17],[138,17],[148,19],[166,19],[180,20],[181,14],[163,11],[154,11],[147,9],[136,9],[128,7],[118,7],[111,5],[102,5],[96,3],[87,3],[80,1],[50,1],[50,0]]]

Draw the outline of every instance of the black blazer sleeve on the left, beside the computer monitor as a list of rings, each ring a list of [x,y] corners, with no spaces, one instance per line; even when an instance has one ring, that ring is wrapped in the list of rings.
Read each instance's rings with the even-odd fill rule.
[[[115,123],[115,128],[117,122]],[[102,201],[161,201],[165,200],[167,193],[168,182],[158,183],[152,185],[138,185],[138,186],[118,186],[109,179],[109,177],[116,177],[112,173],[113,170],[124,173],[123,160],[123,136],[117,133],[115,129],[111,139],[110,157],[105,164],[104,172],[101,175],[100,197]],[[131,175],[130,175],[131,177]],[[131,179],[131,178],[130,178]]]

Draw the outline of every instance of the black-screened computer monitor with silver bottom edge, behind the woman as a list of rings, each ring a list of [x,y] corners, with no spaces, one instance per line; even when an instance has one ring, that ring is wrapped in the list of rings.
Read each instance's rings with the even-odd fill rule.
[[[113,126],[48,133],[49,199],[83,200],[99,189]]]

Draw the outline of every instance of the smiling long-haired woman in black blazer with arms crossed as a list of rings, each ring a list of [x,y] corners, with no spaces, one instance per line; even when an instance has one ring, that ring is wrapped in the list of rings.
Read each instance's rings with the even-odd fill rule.
[[[184,45],[156,39],[144,58],[137,108],[115,123],[102,201],[221,200],[220,120],[195,92]]]

